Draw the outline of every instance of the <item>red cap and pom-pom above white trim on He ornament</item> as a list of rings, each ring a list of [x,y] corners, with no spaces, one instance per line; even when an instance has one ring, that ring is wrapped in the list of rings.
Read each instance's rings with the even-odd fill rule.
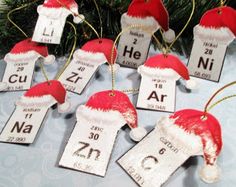
[[[175,39],[175,32],[169,29],[169,14],[162,0],[133,0],[128,7],[127,15],[142,19],[153,17],[164,30],[165,41],[170,43]]]

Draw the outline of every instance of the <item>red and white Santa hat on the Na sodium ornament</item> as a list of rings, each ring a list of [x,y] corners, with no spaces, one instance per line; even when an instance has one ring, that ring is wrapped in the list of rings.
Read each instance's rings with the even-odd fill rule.
[[[60,113],[70,110],[70,102],[66,100],[66,90],[57,80],[39,83],[30,88],[24,96],[16,103],[21,106],[47,106],[59,104],[58,111]]]

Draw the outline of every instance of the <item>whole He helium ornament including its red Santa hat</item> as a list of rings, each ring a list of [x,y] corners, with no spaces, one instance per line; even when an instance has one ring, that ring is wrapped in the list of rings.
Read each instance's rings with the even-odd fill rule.
[[[117,61],[131,68],[138,68],[145,62],[152,34],[158,29],[164,30],[163,37],[167,42],[175,38],[174,31],[169,29],[169,15],[161,0],[133,0],[127,13],[121,17],[121,27],[125,32],[119,41]]]

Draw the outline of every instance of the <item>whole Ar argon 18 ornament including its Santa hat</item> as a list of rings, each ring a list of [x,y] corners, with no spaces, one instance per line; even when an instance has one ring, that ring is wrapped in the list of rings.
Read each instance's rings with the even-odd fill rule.
[[[196,87],[196,83],[190,80],[187,67],[171,54],[150,57],[138,72],[142,76],[138,108],[174,112],[176,81],[183,78],[187,88]]]

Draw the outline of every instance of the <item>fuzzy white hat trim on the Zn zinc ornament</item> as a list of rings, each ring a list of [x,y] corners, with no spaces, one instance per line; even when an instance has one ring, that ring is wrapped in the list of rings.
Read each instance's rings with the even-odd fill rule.
[[[76,117],[79,118],[80,115],[82,115],[85,118],[88,118],[90,120],[99,120],[99,121],[119,121],[118,124],[125,125],[127,122],[122,116],[122,114],[118,111],[109,110],[109,111],[102,111],[93,109],[91,107],[87,107],[85,105],[80,105],[76,111]],[[123,126],[122,125],[122,126]],[[120,127],[121,128],[121,127]]]

